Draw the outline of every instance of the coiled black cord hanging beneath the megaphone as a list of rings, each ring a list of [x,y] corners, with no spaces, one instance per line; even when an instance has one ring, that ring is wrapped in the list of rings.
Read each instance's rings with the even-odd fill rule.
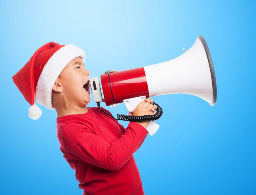
[[[162,108],[155,102],[152,103],[153,105],[157,105],[157,113],[153,114],[153,115],[144,115],[144,116],[132,116],[132,115],[125,115],[125,114],[117,114],[117,119],[115,117],[113,117],[111,114],[108,114],[107,112],[105,112],[104,110],[101,109],[100,103],[97,103],[98,108],[104,112],[105,114],[108,114],[110,117],[112,117],[113,119],[119,121],[130,121],[130,122],[145,122],[145,121],[155,121],[157,119],[160,119],[160,117],[162,117],[163,114],[163,110]]]

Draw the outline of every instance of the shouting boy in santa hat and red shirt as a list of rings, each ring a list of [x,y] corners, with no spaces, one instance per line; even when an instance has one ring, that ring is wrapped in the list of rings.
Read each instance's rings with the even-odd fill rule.
[[[13,82],[32,105],[32,119],[41,115],[34,99],[56,110],[60,149],[75,170],[83,195],[142,195],[133,153],[146,138],[149,122],[130,122],[125,129],[99,108],[88,108],[90,72],[84,58],[83,50],[74,45],[47,43],[12,77]],[[152,102],[141,102],[132,115],[155,114]]]

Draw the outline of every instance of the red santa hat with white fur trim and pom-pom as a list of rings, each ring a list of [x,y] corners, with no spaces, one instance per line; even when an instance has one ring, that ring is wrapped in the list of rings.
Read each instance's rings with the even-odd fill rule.
[[[59,45],[50,42],[40,47],[30,60],[12,76],[13,82],[31,105],[29,117],[38,119],[42,111],[35,104],[52,108],[52,87],[65,66],[74,58],[81,57],[84,61],[85,53],[74,45]]]

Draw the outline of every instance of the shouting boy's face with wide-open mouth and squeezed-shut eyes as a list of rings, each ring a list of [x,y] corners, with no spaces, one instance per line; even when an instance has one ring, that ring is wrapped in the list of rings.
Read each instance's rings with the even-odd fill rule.
[[[80,57],[74,58],[62,70],[58,81],[62,87],[62,92],[66,105],[79,106],[81,108],[91,101],[89,92],[90,72],[84,68]]]

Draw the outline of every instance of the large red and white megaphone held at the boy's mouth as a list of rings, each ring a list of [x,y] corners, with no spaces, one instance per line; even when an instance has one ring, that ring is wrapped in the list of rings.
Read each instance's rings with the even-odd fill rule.
[[[124,71],[106,71],[101,74],[101,85],[104,99],[99,79],[90,78],[95,102],[104,101],[112,107],[124,102],[129,112],[145,98],[165,94],[198,96],[211,106],[217,99],[213,61],[202,36],[198,36],[184,54],[170,61]]]

